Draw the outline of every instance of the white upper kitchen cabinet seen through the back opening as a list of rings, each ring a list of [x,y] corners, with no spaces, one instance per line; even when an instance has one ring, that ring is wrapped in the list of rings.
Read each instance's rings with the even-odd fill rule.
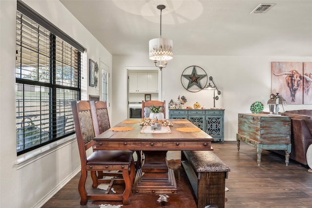
[[[130,72],[129,93],[158,92],[157,72]]]

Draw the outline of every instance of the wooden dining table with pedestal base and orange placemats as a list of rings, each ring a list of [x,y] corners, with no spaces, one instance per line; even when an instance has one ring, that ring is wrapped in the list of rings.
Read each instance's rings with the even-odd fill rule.
[[[95,150],[143,151],[144,162],[137,170],[132,192],[177,193],[174,171],[166,161],[167,151],[212,151],[214,139],[186,119],[168,119],[173,125],[163,127],[162,132],[141,126],[141,120],[128,118],[99,134],[94,138]]]

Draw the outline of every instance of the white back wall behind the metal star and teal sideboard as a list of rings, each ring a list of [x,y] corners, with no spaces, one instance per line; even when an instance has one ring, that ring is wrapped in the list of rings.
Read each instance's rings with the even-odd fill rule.
[[[251,113],[254,101],[265,105],[271,94],[271,61],[312,61],[312,57],[230,57],[230,56],[174,56],[167,68],[162,70],[162,99],[169,103],[177,101],[178,95],[185,95],[186,106],[199,102],[207,108],[214,106],[213,91],[202,90],[192,93],[181,84],[181,74],[189,66],[200,66],[208,76],[213,76],[221,90],[216,107],[225,109],[225,140],[235,140],[237,113]],[[153,66],[148,55],[144,57],[113,56],[114,117],[112,125],[127,117],[127,92],[125,66]],[[119,76],[116,76],[116,75]],[[312,105],[286,105],[285,111],[312,109]],[[281,109],[282,111],[282,109]],[[168,117],[169,111],[166,111]]]

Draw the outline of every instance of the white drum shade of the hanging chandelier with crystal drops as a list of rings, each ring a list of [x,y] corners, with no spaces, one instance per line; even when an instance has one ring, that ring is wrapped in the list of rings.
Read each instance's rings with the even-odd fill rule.
[[[168,38],[154,38],[149,41],[150,59],[168,61],[172,59],[173,41]]]

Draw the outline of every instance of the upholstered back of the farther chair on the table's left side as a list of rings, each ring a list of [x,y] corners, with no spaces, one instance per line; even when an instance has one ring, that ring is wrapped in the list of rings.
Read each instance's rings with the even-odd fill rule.
[[[105,101],[90,102],[96,136],[111,128]]]

